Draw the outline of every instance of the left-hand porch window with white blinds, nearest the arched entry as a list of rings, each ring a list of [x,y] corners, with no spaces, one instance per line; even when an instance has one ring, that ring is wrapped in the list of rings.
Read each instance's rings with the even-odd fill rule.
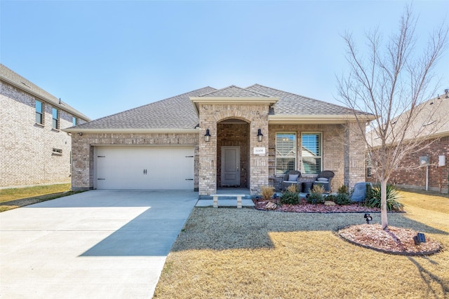
[[[296,134],[276,133],[276,174],[296,170]]]

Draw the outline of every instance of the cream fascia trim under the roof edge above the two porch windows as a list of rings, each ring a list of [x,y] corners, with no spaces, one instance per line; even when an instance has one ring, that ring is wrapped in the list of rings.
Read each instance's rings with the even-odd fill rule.
[[[311,115],[274,115],[268,116],[270,125],[280,124],[338,124],[354,122],[357,120],[371,121],[375,116],[354,116],[354,114],[347,115],[333,115],[333,114],[311,114]]]

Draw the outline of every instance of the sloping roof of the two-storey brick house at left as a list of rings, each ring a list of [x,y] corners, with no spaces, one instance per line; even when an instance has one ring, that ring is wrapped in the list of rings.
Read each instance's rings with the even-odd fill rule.
[[[15,71],[8,69],[8,67],[5,67],[4,64],[0,64],[0,79],[8,84],[15,86],[15,88],[23,90],[29,93],[30,95],[33,95],[38,99],[41,99],[43,102],[47,102],[52,106],[58,107],[69,113],[72,113],[74,116],[82,118],[83,120],[86,121],[91,120],[91,118],[88,118],[80,111],[74,109],[72,106],[69,106],[65,102],[60,101],[60,99],[58,99],[57,97],[51,95],[42,88],[39,88],[39,86],[35,85],[31,81],[15,73]]]

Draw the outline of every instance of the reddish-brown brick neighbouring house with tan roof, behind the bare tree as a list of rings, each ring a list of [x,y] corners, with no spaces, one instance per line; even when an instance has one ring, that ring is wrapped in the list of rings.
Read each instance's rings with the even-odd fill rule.
[[[429,99],[421,105],[427,106],[428,109],[421,110],[422,113],[409,128],[410,132],[427,125],[434,127],[431,128],[431,132],[418,135],[426,139],[425,143],[406,155],[391,174],[389,183],[402,188],[448,193],[449,90],[445,90],[444,95]],[[398,119],[400,118],[401,116]],[[428,164],[420,165],[420,159],[424,160],[424,157],[428,158]],[[370,172],[370,167],[368,167],[367,181],[377,182],[375,173]]]

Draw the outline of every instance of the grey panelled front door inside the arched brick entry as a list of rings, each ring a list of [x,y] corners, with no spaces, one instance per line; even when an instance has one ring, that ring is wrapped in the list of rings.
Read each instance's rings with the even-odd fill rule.
[[[222,146],[222,186],[240,186],[240,146]]]

